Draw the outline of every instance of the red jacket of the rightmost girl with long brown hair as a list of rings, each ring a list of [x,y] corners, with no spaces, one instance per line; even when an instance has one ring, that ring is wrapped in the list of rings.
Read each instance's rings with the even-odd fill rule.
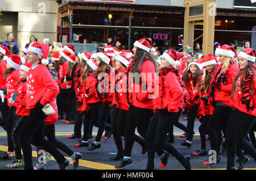
[[[245,112],[251,116],[256,116],[256,75],[254,75],[253,84],[252,84],[254,92],[251,92],[250,90],[250,81],[247,82],[247,85],[248,85],[247,87],[246,87],[246,81],[243,81],[244,83],[243,83],[243,94],[242,94],[241,74],[242,74],[242,71],[240,71],[240,77],[237,79],[236,90],[234,92],[233,100],[230,99],[230,104],[232,107],[236,108],[241,112]],[[251,80],[251,78],[252,76],[249,78],[249,80]],[[247,92],[247,94],[245,92]],[[251,93],[253,93],[253,98],[251,98]]]

